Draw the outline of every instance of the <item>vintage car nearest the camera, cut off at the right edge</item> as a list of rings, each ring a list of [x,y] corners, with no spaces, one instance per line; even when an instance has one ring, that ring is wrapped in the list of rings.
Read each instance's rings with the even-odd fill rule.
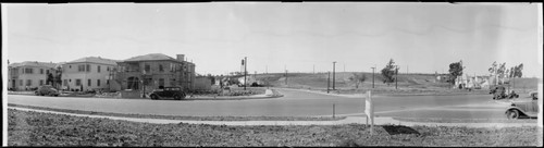
[[[508,119],[536,118],[539,114],[537,92],[531,92],[528,98],[511,101],[505,114]]]

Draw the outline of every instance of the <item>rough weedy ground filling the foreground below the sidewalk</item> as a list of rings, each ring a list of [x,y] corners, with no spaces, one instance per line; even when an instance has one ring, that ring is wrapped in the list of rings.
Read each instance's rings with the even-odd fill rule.
[[[9,110],[8,146],[542,146],[542,128],[146,124]]]

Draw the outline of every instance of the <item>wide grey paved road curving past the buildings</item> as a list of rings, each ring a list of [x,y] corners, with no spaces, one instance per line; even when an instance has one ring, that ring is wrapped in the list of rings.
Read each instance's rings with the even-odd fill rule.
[[[300,90],[280,90],[282,98],[256,100],[148,100],[9,95],[9,103],[100,112],[194,116],[308,116],[363,115],[363,98],[346,98]],[[374,97],[379,116],[403,118],[504,118],[505,104],[489,95]]]

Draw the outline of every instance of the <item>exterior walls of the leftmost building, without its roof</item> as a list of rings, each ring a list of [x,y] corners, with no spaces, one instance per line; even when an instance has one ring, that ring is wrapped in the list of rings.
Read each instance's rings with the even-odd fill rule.
[[[25,69],[32,69],[33,73],[23,73]],[[44,73],[40,73],[40,70]],[[47,70],[49,73],[54,73],[55,71],[47,66],[17,66],[9,69],[8,75],[8,88],[15,88],[16,90],[25,90],[30,88],[36,88],[40,86],[40,81],[42,85],[46,85]],[[30,85],[27,85],[27,81],[30,81]],[[13,87],[13,81],[15,81],[15,87]],[[21,83],[22,81],[22,83]]]

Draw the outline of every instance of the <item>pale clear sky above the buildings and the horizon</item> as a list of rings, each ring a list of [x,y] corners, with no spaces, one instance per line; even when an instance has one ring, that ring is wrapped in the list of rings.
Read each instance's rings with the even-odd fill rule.
[[[66,62],[185,57],[199,74],[371,72],[484,75],[494,61],[542,78],[542,8],[533,3],[2,3],[2,57]]]

